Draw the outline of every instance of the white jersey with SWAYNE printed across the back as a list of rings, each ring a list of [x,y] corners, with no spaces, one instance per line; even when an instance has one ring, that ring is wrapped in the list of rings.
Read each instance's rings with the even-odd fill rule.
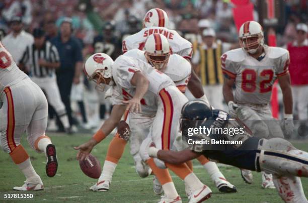
[[[175,30],[169,30],[164,27],[149,27],[143,28],[139,32],[126,37],[122,42],[122,52],[125,53],[131,49],[143,50],[145,40],[153,33],[164,35],[170,44],[173,53],[179,54],[184,58],[191,59],[193,53],[192,44],[181,37]]]

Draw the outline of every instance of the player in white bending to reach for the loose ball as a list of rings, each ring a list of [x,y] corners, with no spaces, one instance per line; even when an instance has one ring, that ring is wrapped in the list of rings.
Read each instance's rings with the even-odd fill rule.
[[[114,106],[110,117],[93,138],[87,143],[75,147],[76,150],[80,150],[77,154],[78,159],[83,160],[87,157],[93,147],[118,125],[126,110],[131,113],[139,113],[144,118],[152,118],[147,132],[151,140],[157,144],[158,148],[171,149],[179,131],[180,112],[176,110],[182,108],[187,98],[169,76],[141,60],[121,55],[113,62],[104,53],[97,53],[89,57],[85,63],[85,73],[102,89],[106,84],[112,86]],[[182,202],[166,167],[174,171],[189,185],[192,190],[190,202],[199,202],[210,196],[211,190],[197,178],[186,164],[165,165],[149,156],[144,161],[162,183],[165,195],[161,202]],[[159,168],[157,165],[165,168]],[[93,187],[99,184],[97,183]],[[95,190],[95,188],[92,189]]]

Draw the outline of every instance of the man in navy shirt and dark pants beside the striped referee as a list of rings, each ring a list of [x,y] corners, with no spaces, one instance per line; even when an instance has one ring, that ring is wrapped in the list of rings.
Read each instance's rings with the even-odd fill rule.
[[[72,36],[72,31],[71,19],[64,18],[60,24],[60,34],[50,40],[56,46],[60,56],[61,65],[56,71],[57,83],[70,126],[74,125],[70,107],[71,86],[72,83],[80,83],[83,67],[82,46],[79,40]],[[75,131],[75,129],[72,129],[72,131]]]

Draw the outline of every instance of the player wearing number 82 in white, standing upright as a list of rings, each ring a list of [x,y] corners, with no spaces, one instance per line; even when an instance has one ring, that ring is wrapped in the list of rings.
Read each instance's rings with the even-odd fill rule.
[[[272,117],[268,105],[272,85],[278,79],[284,104],[282,128],[286,134],[292,134],[294,125],[288,51],[264,45],[263,29],[255,21],[248,21],[241,26],[239,42],[242,48],[227,51],[221,56],[223,96],[230,116],[244,121],[254,136],[283,138],[280,125]],[[252,183],[250,171],[242,170],[242,176],[247,183]],[[262,172],[262,179],[263,188],[274,188],[270,174]]]

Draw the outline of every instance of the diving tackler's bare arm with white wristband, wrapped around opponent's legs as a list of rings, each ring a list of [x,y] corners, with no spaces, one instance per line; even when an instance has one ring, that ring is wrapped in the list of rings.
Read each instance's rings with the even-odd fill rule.
[[[190,149],[185,149],[183,151],[170,151],[170,150],[158,150],[155,147],[149,148],[149,155],[151,157],[157,157],[162,161],[171,163],[171,164],[182,164],[186,161],[195,159],[201,154],[198,152],[191,151]]]

